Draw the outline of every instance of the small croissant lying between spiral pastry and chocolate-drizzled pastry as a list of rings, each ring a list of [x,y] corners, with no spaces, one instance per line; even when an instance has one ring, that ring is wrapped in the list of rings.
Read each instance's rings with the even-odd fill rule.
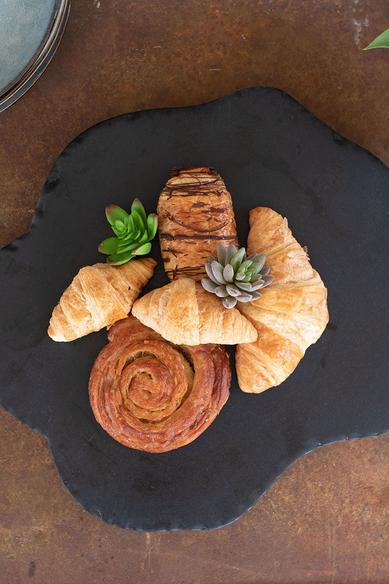
[[[236,308],[191,278],[180,278],[135,301],[132,314],[176,345],[249,343],[257,339],[254,326]]]

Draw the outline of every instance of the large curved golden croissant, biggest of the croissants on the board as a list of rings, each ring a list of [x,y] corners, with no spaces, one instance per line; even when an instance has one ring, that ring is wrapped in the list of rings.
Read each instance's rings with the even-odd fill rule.
[[[274,280],[258,300],[237,303],[258,331],[258,339],[238,345],[235,354],[239,386],[249,393],[285,381],[328,322],[327,288],[288,221],[267,207],[250,211],[247,253],[255,252],[266,255]]]

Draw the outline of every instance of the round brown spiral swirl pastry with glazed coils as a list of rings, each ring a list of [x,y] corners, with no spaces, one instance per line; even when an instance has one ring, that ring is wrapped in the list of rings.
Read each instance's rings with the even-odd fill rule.
[[[173,345],[134,316],[116,322],[94,361],[89,399],[97,422],[137,450],[166,452],[192,442],[229,396],[221,345]]]

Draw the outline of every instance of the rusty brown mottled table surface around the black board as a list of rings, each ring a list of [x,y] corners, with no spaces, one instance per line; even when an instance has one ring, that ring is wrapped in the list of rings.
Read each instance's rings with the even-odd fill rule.
[[[62,149],[101,120],[269,85],[389,163],[387,0],[73,0],[33,88],[0,114],[0,245]],[[282,391],[282,390],[280,390]],[[44,437],[1,412],[2,584],[389,582],[389,436],[294,464],[237,522],[135,533],[84,512]]]

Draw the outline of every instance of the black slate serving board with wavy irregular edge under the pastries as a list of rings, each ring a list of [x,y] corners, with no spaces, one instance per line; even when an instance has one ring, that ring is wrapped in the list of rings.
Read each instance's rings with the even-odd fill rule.
[[[89,406],[106,332],[55,343],[46,331],[80,267],[105,257],[106,204],[139,197],[155,211],[171,167],[196,165],[225,180],[241,245],[251,208],[288,217],[328,288],[330,324],[280,387],[244,394],[233,372],[229,400],[197,440],[142,453],[108,436]],[[107,523],[159,531],[234,521],[304,453],[389,431],[388,189],[379,159],[277,89],[97,124],[59,156],[30,231],[0,252],[1,405],[47,436],[68,491]],[[157,240],[152,256],[144,292],[167,283]]]

